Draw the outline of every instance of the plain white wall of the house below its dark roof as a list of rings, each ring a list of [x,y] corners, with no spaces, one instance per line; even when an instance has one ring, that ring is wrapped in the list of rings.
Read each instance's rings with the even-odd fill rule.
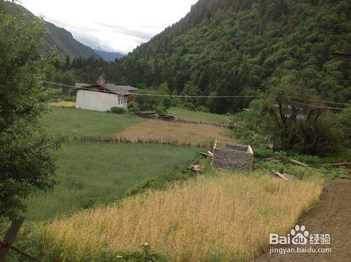
[[[127,102],[124,102],[123,96],[117,96],[114,93],[102,93],[87,90],[78,90],[77,92],[76,108],[104,112],[110,110],[111,107],[127,108]]]

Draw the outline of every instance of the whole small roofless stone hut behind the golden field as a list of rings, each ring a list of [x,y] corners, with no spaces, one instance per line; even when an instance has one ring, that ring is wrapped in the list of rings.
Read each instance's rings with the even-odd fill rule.
[[[224,148],[216,141],[213,148],[212,166],[218,169],[251,170],[253,151],[250,145],[226,143]]]

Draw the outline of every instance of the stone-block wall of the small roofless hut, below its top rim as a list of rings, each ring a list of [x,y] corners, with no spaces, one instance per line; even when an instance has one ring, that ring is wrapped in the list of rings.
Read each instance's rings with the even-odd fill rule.
[[[214,148],[213,150],[213,167],[219,169],[251,170],[252,162],[253,154],[251,152],[242,152],[227,148]]]

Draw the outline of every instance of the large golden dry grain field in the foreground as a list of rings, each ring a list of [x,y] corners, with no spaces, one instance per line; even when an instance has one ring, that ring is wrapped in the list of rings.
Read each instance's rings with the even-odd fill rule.
[[[267,247],[270,233],[290,230],[321,192],[316,179],[199,176],[53,221],[42,232],[44,249],[62,260],[86,261],[101,258],[102,250],[135,251],[149,242],[171,261],[249,261]]]

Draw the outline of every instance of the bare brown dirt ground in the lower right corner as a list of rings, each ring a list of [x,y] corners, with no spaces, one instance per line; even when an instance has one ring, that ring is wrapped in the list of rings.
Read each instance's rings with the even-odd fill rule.
[[[298,225],[305,225],[312,234],[330,234],[331,244],[311,247],[331,247],[331,253],[319,254],[263,254],[256,261],[350,261],[351,259],[351,180],[336,179],[326,181],[320,202],[305,216]],[[309,245],[306,245],[309,247]],[[296,245],[280,247],[293,248]],[[300,246],[304,247],[304,246]],[[269,251],[268,251],[269,252]]]

